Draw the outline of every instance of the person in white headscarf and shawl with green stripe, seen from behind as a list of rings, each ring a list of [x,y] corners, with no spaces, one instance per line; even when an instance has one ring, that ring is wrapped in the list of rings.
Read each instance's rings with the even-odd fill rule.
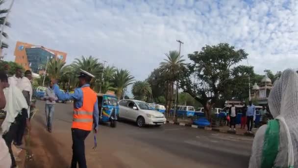
[[[285,70],[268,99],[274,117],[256,132],[249,168],[298,168],[298,74]]]

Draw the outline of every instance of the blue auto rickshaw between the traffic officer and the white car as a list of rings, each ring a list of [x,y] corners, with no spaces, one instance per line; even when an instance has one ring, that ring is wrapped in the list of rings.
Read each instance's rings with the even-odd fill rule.
[[[111,127],[116,127],[119,113],[118,99],[115,95],[98,94],[99,124],[110,122]]]

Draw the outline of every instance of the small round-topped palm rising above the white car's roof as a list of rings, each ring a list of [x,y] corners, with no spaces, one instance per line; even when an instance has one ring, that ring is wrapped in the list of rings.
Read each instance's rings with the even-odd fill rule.
[[[141,96],[142,101],[145,101],[146,96],[151,95],[151,85],[147,81],[137,81],[132,86],[132,94]]]

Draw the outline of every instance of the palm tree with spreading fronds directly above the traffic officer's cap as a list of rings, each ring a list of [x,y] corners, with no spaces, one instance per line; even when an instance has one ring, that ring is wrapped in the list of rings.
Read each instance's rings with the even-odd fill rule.
[[[92,56],[82,56],[81,59],[75,58],[75,61],[72,63],[71,67],[75,72],[79,72],[80,69],[82,69],[94,75],[95,79],[91,81],[92,87],[95,85],[96,79],[101,78],[103,69],[102,64],[99,62],[99,60]]]

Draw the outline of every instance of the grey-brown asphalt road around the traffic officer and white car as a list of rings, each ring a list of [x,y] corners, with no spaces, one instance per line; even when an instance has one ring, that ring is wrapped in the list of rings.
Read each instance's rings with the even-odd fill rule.
[[[28,168],[68,168],[72,157],[72,104],[56,104],[52,133],[45,127],[44,102],[32,120],[34,161]],[[247,168],[252,138],[166,124],[138,128],[118,122],[99,127],[85,140],[88,168]]]

